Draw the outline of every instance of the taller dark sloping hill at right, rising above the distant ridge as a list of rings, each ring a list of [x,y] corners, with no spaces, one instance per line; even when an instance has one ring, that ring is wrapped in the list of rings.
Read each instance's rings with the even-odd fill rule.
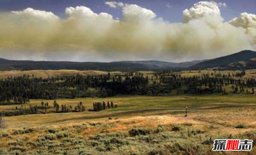
[[[221,67],[223,69],[255,69],[256,68],[256,52],[244,50],[241,52],[206,60],[191,66],[191,69],[206,69],[213,67]]]

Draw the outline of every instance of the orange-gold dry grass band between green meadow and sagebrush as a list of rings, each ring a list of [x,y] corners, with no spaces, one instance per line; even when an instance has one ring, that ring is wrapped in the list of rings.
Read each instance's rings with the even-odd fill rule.
[[[172,125],[184,125],[191,123],[195,129],[201,129],[211,133],[232,133],[239,134],[247,131],[256,130],[254,108],[239,107],[239,108],[218,108],[218,109],[204,109],[204,110],[190,110],[188,117],[181,114],[168,114],[168,110],[163,114],[162,111],[124,114],[108,119],[108,115],[113,112],[79,112],[79,113],[60,113],[60,114],[45,114],[45,115],[23,115],[6,117],[6,131],[12,129],[22,129],[23,127],[40,127],[40,126],[54,126],[55,128],[70,127],[74,125],[81,125],[83,123],[104,123],[107,125],[115,124],[109,127],[108,132],[117,132],[129,130],[132,127],[139,127],[145,129],[155,129],[158,125],[165,125],[171,127]],[[103,118],[97,118],[102,116]],[[84,117],[85,116],[85,117]],[[87,117],[92,118],[87,118]],[[83,118],[84,117],[84,118]],[[79,118],[79,119],[76,119]],[[67,120],[67,121],[65,121]],[[236,129],[238,124],[244,124],[244,129]],[[83,132],[95,135],[102,130],[102,128],[84,129]]]

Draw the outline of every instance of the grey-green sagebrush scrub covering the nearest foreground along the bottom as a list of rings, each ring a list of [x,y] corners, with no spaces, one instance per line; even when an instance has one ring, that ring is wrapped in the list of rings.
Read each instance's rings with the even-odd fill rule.
[[[174,130],[177,126],[172,127]],[[213,140],[229,136],[210,135],[200,129],[190,129],[192,136],[188,137],[187,131],[178,127],[180,130],[175,130],[177,132],[167,131],[160,125],[154,130],[132,128],[129,131],[97,134],[90,138],[77,136],[79,134],[76,130],[55,134],[47,131],[46,134],[43,128],[39,133],[46,135],[41,134],[37,138],[28,139],[30,134],[8,138],[8,149],[0,149],[0,155],[213,155]],[[233,138],[253,139],[255,144],[256,132],[233,135]]]

